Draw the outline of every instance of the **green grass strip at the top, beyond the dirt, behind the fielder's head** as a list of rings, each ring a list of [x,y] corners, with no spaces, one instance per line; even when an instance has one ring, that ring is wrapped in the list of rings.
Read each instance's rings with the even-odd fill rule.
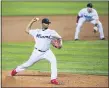
[[[77,15],[87,2],[17,2],[2,1],[2,16]],[[108,2],[92,2],[98,14],[108,14]],[[102,6],[101,6],[102,5]]]

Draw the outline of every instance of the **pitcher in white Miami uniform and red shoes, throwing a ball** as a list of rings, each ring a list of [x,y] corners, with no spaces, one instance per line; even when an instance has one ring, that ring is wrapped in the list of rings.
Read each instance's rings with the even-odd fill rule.
[[[25,70],[41,59],[46,59],[51,63],[51,83],[59,84],[57,81],[56,57],[50,50],[50,44],[60,49],[62,47],[62,38],[55,30],[48,29],[51,23],[48,18],[42,19],[41,29],[31,29],[32,24],[38,20],[39,18],[32,19],[26,28],[26,33],[32,35],[35,40],[34,50],[28,61],[12,70],[11,76],[15,76],[18,72]]]

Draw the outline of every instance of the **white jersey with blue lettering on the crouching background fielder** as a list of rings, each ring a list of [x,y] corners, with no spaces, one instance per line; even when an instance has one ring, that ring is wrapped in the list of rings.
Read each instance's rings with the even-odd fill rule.
[[[92,12],[91,13],[89,13],[87,11],[87,8],[83,8],[82,10],[80,10],[78,15],[80,17],[84,17],[87,21],[99,19],[97,11],[95,9],[93,9],[93,8],[92,8]]]

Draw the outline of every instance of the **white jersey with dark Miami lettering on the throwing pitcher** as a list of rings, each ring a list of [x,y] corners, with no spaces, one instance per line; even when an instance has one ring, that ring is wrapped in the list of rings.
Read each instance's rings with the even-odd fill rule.
[[[42,51],[47,51],[50,48],[51,39],[53,36],[61,38],[61,36],[55,30],[50,29],[29,30],[29,34],[35,39],[35,48]]]

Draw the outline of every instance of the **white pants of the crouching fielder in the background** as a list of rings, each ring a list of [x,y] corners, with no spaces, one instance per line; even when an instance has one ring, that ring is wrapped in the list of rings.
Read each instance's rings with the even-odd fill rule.
[[[79,32],[81,30],[81,27],[83,25],[83,23],[86,21],[85,18],[80,18],[79,21],[78,21],[78,24],[77,24],[77,27],[76,27],[76,32],[75,32],[75,39],[79,39]],[[89,21],[90,23],[92,24],[96,24],[96,20],[92,20],[92,21]],[[104,33],[103,33],[103,27],[102,27],[102,23],[99,21],[98,22],[98,31],[100,33],[100,39],[104,38]]]

